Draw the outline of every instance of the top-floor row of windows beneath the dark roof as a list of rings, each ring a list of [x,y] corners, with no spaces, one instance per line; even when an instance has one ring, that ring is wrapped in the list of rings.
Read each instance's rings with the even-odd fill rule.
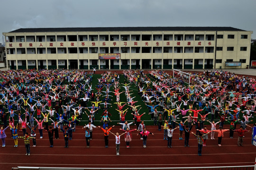
[[[120,37],[119,37],[120,36]],[[214,34],[206,34],[204,37],[204,34],[196,34],[195,37],[193,34],[159,34],[159,35],[89,35],[89,41],[183,41],[183,40],[195,40],[195,41],[201,41],[201,40],[206,40],[206,41],[213,41],[214,40]],[[56,42],[56,38],[58,42],[66,42],[66,39],[68,41],[88,41],[88,35],[37,35],[37,36],[16,36],[16,42]],[[223,34],[218,34],[217,35],[218,39],[223,38]],[[235,35],[234,34],[228,34],[228,39],[234,39]],[[244,34],[241,35],[241,39],[247,39],[248,35]],[[8,37],[9,42],[14,42],[14,36],[9,36]]]

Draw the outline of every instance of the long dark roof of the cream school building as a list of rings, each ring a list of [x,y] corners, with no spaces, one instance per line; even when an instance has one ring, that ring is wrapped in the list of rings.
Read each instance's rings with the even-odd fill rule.
[[[245,31],[233,27],[68,27],[68,28],[19,28],[9,33],[33,32],[106,32],[106,31]]]

